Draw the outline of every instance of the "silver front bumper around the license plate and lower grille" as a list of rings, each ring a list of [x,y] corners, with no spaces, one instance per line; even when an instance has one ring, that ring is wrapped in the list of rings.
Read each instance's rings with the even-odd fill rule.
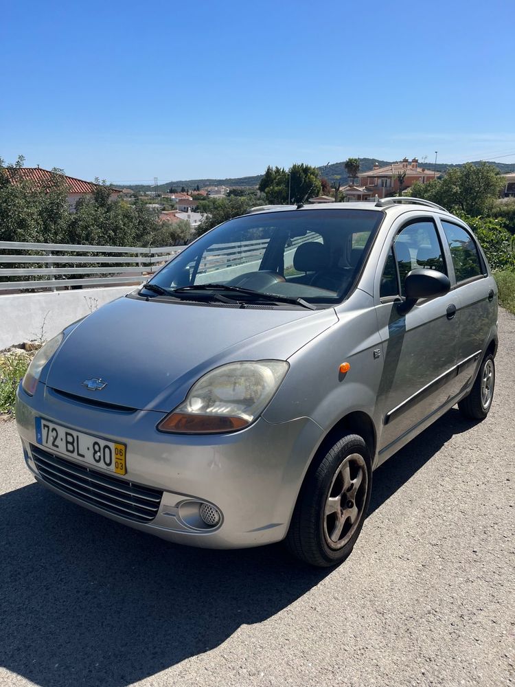
[[[49,484],[36,466],[32,449],[37,445],[38,416],[126,443],[127,474],[118,479],[163,492],[155,518],[135,522]],[[244,548],[284,539],[304,473],[322,438],[321,427],[310,418],[279,424],[260,418],[232,434],[184,436],[157,431],[163,416],[154,411],[126,413],[95,407],[65,398],[42,383],[34,396],[28,396],[21,385],[17,393],[16,422],[27,467],[38,482],[72,502],[187,545]],[[71,469],[73,464],[83,466],[76,459],[63,457]],[[194,520],[186,514],[201,502],[220,510],[217,526],[192,526]]]

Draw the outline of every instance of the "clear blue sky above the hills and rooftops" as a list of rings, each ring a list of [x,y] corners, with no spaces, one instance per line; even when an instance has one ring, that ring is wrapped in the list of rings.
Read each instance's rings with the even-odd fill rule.
[[[0,12],[6,161],[118,184],[435,150],[515,163],[514,0],[0,0]]]

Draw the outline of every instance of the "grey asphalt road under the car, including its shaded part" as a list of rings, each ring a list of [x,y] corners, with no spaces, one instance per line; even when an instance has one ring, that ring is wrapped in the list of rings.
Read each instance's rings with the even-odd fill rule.
[[[170,545],[34,483],[0,424],[0,685],[515,683],[515,317],[494,405],[453,409],[374,474],[336,570],[279,546]]]

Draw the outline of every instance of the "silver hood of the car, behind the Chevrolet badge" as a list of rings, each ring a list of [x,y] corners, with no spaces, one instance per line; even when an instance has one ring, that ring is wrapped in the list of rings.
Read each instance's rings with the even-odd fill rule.
[[[232,308],[124,297],[80,321],[41,381],[89,401],[169,412],[205,372],[286,360],[337,322],[321,311]],[[102,379],[102,390],[84,386]]]

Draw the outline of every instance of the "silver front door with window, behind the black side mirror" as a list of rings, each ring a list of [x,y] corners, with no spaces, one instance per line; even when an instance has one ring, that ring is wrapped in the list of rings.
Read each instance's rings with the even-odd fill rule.
[[[378,265],[374,289],[385,355],[378,398],[383,425],[380,453],[388,455],[398,440],[457,393],[459,334],[459,308],[452,292],[419,300],[407,313],[398,309],[409,271],[424,267],[448,273],[435,218],[425,214],[400,220],[393,234]]]

